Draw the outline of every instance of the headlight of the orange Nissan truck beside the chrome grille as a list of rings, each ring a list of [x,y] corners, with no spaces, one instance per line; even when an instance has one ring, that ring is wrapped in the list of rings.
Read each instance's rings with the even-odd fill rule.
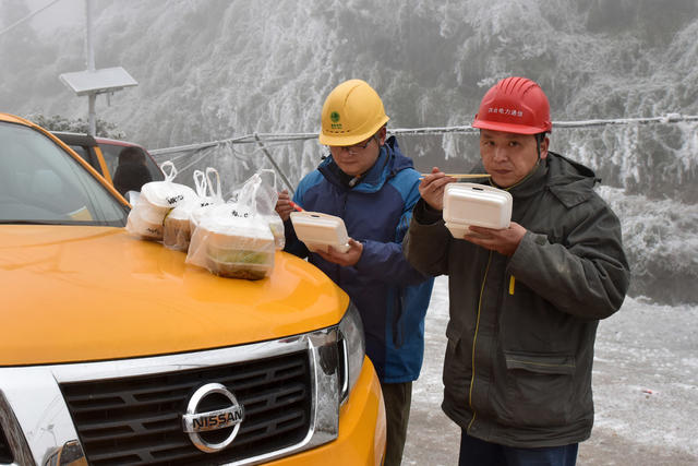
[[[366,354],[366,346],[363,336],[363,322],[359,310],[349,303],[345,316],[339,322],[339,399],[345,403],[351,389],[357,383],[363,358]]]

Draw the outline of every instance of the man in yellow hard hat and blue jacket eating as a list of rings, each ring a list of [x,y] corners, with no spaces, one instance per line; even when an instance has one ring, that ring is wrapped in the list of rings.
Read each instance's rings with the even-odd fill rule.
[[[386,139],[387,115],[364,81],[339,84],[322,110],[320,142],[329,155],[298,186],[293,202],[306,211],[341,217],[349,249],[310,252],[288,220],[288,193],[277,212],[285,220],[286,250],[325,272],[354,302],[363,320],[366,354],[383,389],[387,417],[385,465],[399,465],[412,393],[424,353],[424,314],[433,278],[409,265],[402,237],[419,200],[420,175]]]

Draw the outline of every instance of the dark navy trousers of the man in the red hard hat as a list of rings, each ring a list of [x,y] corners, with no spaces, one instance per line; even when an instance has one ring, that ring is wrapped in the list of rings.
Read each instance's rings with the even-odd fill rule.
[[[518,449],[460,435],[458,466],[575,466],[578,443],[564,446]]]

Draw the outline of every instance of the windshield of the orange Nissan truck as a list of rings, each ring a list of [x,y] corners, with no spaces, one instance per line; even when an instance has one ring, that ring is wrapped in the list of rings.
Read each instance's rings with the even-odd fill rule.
[[[0,121],[0,224],[124,226],[128,207],[40,132]]]

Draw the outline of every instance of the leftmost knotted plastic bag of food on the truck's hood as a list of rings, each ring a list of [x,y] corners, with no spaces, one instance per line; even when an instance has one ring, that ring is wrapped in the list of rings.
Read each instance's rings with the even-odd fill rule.
[[[196,196],[190,187],[172,182],[177,176],[174,164],[168,160],[161,169],[165,180],[143,184],[141,195],[129,213],[127,230],[141,239],[161,240],[165,217],[172,208]]]

